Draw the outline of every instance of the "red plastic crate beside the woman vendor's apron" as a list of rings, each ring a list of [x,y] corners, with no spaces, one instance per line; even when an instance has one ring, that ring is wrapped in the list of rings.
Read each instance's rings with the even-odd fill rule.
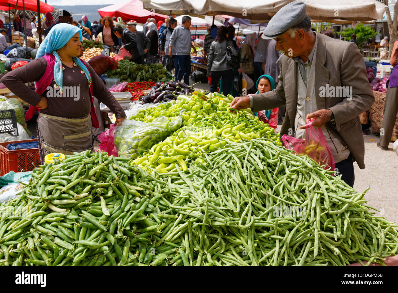
[[[18,149],[10,151],[7,149],[8,144],[21,142],[35,142],[33,140],[18,140],[15,142],[0,142],[0,176],[10,171],[25,172],[32,171],[40,165],[39,149]]]

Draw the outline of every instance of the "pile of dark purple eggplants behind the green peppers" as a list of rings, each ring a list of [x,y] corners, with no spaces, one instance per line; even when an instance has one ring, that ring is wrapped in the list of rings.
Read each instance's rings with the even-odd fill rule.
[[[146,96],[142,96],[139,98],[140,104],[147,103],[161,103],[161,102],[169,102],[171,100],[176,100],[177,96],[180,94],[188,95],[194,92],[194,85],[187,85],[185,83],[181,83],[180,81],[169,81],[168,83],[156,83],[154,87],[150,89],[150,92]]]

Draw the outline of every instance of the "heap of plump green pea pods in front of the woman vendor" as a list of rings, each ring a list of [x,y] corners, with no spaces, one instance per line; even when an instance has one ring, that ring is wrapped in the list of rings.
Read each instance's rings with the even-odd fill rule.
[[[33,170],[22,194],[0,205],[0,265],[156,260],[144,248],[162,226],[145,215],[155,208],[149,186],[128,161],[86,151]]]

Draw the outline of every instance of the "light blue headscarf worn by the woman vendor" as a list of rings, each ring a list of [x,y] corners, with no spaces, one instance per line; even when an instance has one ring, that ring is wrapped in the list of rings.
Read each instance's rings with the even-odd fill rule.
[[[44,55],[53,54],[55,56],[55,65],[54,65],[54,80],[57,86],[63,89],[62,87],[62,63],[61,59],[58,56],[56,50],[62,48],[68,41],[76,34],[79,33],[80,41],[82,40],[82,30],[72,24],[57,24],[53,26],[49,34],[46,36],[44,41],[40,44],[39,49],[37,50],[36,59],[43,57]],[[84,75],[91,83],[90,73],[86,65],[78,57],[73,57],[73,61],[83,70]]]

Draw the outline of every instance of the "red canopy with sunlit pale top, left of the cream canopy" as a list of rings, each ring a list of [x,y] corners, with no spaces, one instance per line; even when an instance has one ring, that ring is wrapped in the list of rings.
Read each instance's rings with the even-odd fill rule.
[[[1,4],[0,0],[0,4]],[[146,9],[141,1],[139,0],[130,0],[120,2],[118,4],[113,4],[110,6],[106,6],[104,8],[98,9],[98,13],[101,17],[110,16],[110,17],[121,17],[123,20],[136,20],[139,24],[144,24],[148,18],[154,18],[156,22],[167,18],[167,15],[160,13],[152,13]]]

